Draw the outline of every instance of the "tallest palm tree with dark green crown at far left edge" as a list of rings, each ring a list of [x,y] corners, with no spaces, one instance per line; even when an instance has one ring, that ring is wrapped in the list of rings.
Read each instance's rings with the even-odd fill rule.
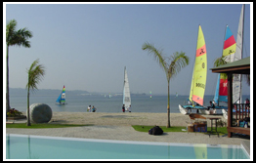
[[[27,28],[24,27],[16,31],[16,26],[16,20],[10,20],[6,25],[6,111],[11,108],[9,98],[9,46],[18,45],[30,48],[30,42],[27,39],[32,37],[31,31]]]

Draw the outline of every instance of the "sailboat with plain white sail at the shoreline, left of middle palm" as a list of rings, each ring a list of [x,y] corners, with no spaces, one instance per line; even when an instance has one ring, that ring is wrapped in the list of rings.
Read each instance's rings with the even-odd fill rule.
[[[125,106],[125,110],[128,110],[128,107],[131,105],[131,94],[130,94],[126,66],[124,67],[123,104]]]

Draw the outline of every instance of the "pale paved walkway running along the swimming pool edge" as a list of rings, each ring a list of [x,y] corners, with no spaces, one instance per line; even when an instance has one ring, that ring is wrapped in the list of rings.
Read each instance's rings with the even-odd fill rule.
[[[10,122],[10,121],[9,121]],[[25,123],[25,120],[16,120],[15,123]],[[249,140],[241,138],[218,137],[201,133],[168,132],[161,136],[152,136],[148,133],[137,132],[131,126],[84,126],[54,129],[14,129],[7,128],[6,134],[86,138],[118,141],[138,141],[138,142],[160,142],[160,143],[207,143],[207,144],[237,144],[242,142],[250,144]],[[248,148],[250,148],[248,146]]]

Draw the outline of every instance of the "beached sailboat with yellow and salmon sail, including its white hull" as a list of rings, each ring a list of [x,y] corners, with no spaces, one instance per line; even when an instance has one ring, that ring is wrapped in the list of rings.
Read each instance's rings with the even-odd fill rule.
[[[188,105],[179,104],[179,110],[182,114],[188,114],[189,110],[191,110],[192,112],[192,109],[195,109],[197,113],[204,114],[204,110],[206,109],[206,107],[203,106],[203,98],[204,98],[204,92],[205,92],[206,75],[207,75],[206,46],[205,46],[203,32],[202,32],[201,26],[199,25],[195,61],[194,61],[193,72],[192,72],[191,94],[190,94],[190,98],[188,99],[192,103]],[[197,104],[195,104],[194,102],[196,102]]]

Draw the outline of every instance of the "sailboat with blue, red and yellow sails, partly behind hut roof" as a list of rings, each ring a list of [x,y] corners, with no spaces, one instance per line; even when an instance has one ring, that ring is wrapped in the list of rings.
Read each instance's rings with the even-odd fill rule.
[[[234,61],[235,56],[235,37],[230,29],[226,26],[225,41],[223,46],[223,57],[225,61],[232,62]],[[216,91],[214,96],[214,102],[216,103],[215,109],[205,110],[205,114],[223,114],[222,111],[217,112],[219,109],[228,109],[228,106],[220,105],[220,102],[228,102],[228,79],[224,77],[223,74],[218,74]]]

